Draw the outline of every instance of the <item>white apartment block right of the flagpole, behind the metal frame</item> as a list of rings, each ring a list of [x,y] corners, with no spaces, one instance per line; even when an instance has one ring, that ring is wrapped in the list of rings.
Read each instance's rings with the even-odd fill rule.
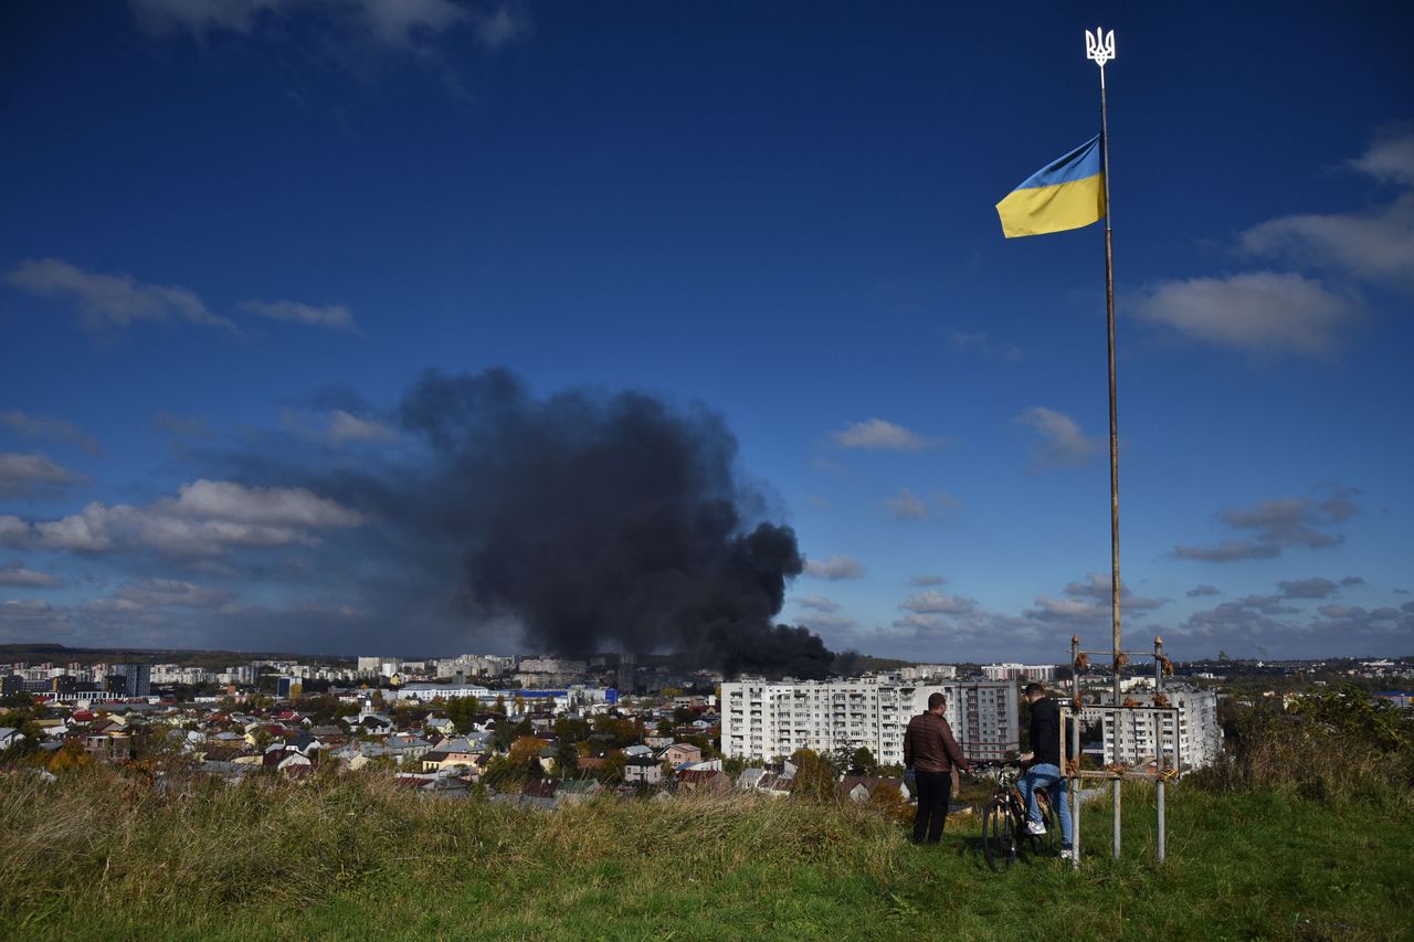
[[[1223,750],[1223,731],[1217,724],[1217,694],[1212,690],[1168,690],[1165,693],[1172,713],[1151,713],[1147,710],[1107,710],[1103,706],[1089,706],[1082,717],[1104,724],[1104,761],[1138,765],[1158,755],[1157,743],[1162,744],[1165,765],[1174,764],[1175,735],[1182,771],[1202,768],[1213,762]],[[1152,694],[1135,694],[1140,706],[1152,706]],[[1116,720],[1116,713],[1118,719]],[[1175,719],[1178,728],[1175,730]]]

